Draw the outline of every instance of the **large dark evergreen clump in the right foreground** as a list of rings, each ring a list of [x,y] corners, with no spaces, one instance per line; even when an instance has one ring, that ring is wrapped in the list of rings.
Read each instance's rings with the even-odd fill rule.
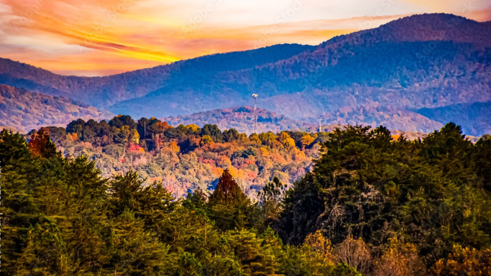
[[[320,230],[334,243],[354,235],[375,247],[395,236],[434,260],[456,244],[489,248],[490,150],[491,140],[473,144],[453,123],[415,141],[393,141],[384,127],[336,130],[288,191],[282,236],[300,244]]]

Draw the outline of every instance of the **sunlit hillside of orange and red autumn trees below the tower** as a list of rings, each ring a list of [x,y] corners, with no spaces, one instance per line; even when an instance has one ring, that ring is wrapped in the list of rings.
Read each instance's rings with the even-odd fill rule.
[[[127,115],[100,122],[79,119],[66,128],[43,131],[65,156],[93,160],[104,177],[136,170],[145,184],[162,181],[176,197],[196,188],[212,189],[223,169],[251,197],[273,177],[292,184],[318,157],[317,143],[327,137],[291,131],[246,136],[211,124],[174,127],[156,118],[135,121]]]

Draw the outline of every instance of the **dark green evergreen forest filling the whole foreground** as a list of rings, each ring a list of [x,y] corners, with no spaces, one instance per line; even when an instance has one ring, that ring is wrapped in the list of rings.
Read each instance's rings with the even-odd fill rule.
[[[112,138],[137,143],[128,121],[113,119]],[[89,138],[80,126],[67,137]],[[203,130],[202,146],[234,137]],[[491,274],[491,139],[473,144],[452,123],[415,141],[336,129],[312,172],[289,190],[274,178],[259,202],[228,169],[179,200],[137,172],[104,178],[86,157],[63,158],[47,131],[28,142],[0,132],[6,276]],[[294,146],[285,134],[262,141]]]

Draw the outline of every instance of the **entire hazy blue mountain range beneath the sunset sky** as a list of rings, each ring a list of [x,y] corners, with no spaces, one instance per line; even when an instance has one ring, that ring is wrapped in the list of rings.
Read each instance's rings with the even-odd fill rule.
[[[292,121],[430,132],[453,120],[480,136],[491,129],[490,65],[490,22],[424,14],[318,46],[274,45],[107,77],[0,59],[0,83],[136,118],[198,113],[211,122],[206,111],[251,105],[257,93],[259,107]]]

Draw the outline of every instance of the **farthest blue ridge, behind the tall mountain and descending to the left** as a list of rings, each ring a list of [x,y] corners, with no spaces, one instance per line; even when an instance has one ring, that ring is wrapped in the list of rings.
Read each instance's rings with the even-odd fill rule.
[[[244,52],[206,55],[107,77],[61,76],[28,64],[0,58],[0,83],[62,95],[97,107],[143,96],[160,87],[199,83],[219,71],[242,70],[275,62],[313,46],[281,44]]]

